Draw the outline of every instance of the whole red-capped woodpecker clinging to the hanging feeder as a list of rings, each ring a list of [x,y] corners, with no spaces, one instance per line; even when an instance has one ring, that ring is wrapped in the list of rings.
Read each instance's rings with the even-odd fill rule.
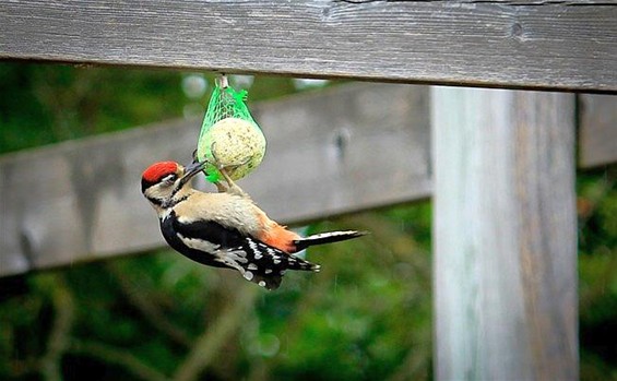
[[[219,192],[193,189],[190,180],[205,163],[183,167],[175,162],[151,165],[142,175],[143,195],[158,215],[167,243],[189,259],[238,271],[247,281],[276,289],[287,270],[319,272],[320,265],[293,255],[309,246],[364,236],[356,230],[308,237],[270,219],[226,174]]]

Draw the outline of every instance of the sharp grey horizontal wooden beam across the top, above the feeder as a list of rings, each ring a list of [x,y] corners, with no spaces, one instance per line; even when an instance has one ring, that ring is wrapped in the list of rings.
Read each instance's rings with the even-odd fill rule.
[[[615,1],[0,5],[0,59],[617,91]]]

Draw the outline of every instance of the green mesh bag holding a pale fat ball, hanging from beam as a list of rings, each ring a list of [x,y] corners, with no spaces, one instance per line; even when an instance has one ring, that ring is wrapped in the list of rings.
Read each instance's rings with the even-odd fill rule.
[[[215,82],[214,91],[203,118],[198,141],[197,157],[207,160],[206,179],[221,179],[217,162],[234,180],[252,171],[265,154],[265,138],[253,120],[247,105],[247,91],[235,91],[225,78]]]

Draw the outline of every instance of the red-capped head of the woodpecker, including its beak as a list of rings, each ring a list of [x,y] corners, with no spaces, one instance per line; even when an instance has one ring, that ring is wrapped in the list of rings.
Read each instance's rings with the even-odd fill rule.
[[[155,163],[143,171],[141,191],[157,211],[174,205],[190,189],[189,180],[203,170],[204,163],[183,167],[176,162]]]

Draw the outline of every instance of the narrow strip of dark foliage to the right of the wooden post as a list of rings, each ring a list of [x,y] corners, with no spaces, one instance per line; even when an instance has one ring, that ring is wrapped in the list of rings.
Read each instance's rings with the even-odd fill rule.
[[[617,166],[579,174],[581,374],[617,380]]]

